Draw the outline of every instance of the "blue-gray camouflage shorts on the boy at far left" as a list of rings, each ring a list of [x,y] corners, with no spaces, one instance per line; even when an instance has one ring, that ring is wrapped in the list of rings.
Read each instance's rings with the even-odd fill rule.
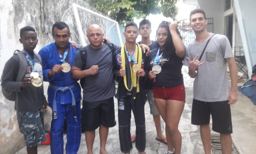
[[[28,147],[37,146],[46,141],[43,129],[43,111],[19,112],[20,132],[24,135]]]

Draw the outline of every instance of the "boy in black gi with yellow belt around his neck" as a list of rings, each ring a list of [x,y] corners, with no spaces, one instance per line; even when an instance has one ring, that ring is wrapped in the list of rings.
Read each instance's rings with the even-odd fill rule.
[[[131,142],[131,110],[136,123],[136,148],[139,154],[145,154],[146,132],[144,105],[146,101],[143,70],[143,52],[136,38],[138,26],[129,22],[125,26],[124,46],[113,55],[114,78],[119,82],[116,97],[118,99],[119,141],[123,153],[130,154]]]

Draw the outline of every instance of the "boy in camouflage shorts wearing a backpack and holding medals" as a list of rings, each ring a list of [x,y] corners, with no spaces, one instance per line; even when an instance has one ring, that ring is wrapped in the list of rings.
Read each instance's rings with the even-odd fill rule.
[[[18,109],[19,113],[17,115],[19,129],[24,134],[28,154],[36,154],[37,145],[46,141],[42,124],[43,106],[47,110],[48,103],[42,84],[41,57],[33,51],[38,42],[35,29],[30,26],[20,29],[19,41],[23,44],[23,50],[20,52],[23,52],[26,57],[26,59],[24,57],[24,61],[27,60],[24,78],[21,82],[16,82],[20,58],[14,54],[5,64],[1,86],[7,91],[18,92],[18,106],[15,105],[15,109]]]

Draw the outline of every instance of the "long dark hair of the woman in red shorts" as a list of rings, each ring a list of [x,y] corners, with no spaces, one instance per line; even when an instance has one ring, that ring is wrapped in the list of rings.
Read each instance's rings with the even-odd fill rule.
[[[167,30],[167,39],[163,45],[163,48],[165,49],[164,54],[167,57],[170,57],[171,54],[175,53],[175,51],[176,51],[174,44],[173,44],[172,35],[171,35],[170,29],[169,29],[169,25],[170,25],[170,22],[162,21],[158,26],[158,29],[165,28]],[[157,32],[158,32],[158,29],[157,29]],[[180,31],[178,30],[178,28],[176,29],[176,32],[178,33],[179,37],[181,38],[181,34],[180,34]],[[156,37],[157,37],[157,34],[156,34]],[[182,40],[182,38],[181,38],[181,40]],[[158,43],[158,40],[156,40],[156,41],[157,41],[157,47],[159,48],[160,45]]]

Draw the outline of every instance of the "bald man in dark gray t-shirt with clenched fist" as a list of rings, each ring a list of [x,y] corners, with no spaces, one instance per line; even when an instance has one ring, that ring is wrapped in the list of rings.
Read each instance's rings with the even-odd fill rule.
[[[98,25],[87,28],[89,45],[80,49],[87,52],[86,66],[82,70],[83,61],[80,51],[76,52],[72,66],[72,77],[85,80],[83,87],[82,129],[88,154],[92,154],[95,130],[99,127],[100,153],[105,149],[109,127],[116,125],[114,98],[115,82],[113,79],[112,51],[102,43],[103,32]],[[114,45],[114,49],[119,47]],[[80,81],[81,83],[81,81]]]

